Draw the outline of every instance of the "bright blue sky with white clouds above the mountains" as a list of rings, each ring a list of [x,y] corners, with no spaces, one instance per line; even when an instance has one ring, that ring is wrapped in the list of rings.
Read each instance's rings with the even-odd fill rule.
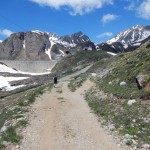
[[[150,0],[1,0],[0,40],[13,32],[82,31],[99,43],[134,25],[150,25]]]

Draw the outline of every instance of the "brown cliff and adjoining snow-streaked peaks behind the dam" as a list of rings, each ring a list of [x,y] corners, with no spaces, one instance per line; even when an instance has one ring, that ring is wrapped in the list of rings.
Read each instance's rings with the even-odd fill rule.
[[[84,48],[89,42],[82,32],[59,37],[55,33],[41,31],[12,34],[0,43],[0,59],[8,60],[52,60],[65,57],[78,44]]]

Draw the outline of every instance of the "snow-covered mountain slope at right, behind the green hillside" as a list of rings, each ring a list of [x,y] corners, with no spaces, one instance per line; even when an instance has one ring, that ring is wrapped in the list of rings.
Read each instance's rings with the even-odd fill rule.
[[[98,44],[101,50],[111,52],[133,51],[146,41],[150,40],[150,26],[133,26],[120,32],[111,40]]]

